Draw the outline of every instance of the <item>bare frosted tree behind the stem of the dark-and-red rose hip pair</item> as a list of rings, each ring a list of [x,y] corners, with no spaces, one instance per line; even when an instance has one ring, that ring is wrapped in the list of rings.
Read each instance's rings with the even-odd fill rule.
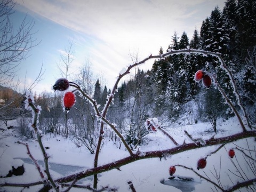
[[[80,69],[75,82],[90,97],[93,97],[94,74],[91,69],[92,62],[87,59],[84,66]],[[74,137],[73,142],[76,146],[84,145],[91,154],[95,150],[95,141],[98,137],[97,118],[90,102],[86,101],[81,94],[76,96],[75,115],[72,116],[74,124],[70,127],[70,133]]]

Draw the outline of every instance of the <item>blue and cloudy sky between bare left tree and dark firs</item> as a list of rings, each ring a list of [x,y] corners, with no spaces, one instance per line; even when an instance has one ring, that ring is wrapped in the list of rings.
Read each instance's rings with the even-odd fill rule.
[[[35,81],[42,67],[42,80],[33,88],[37,94],[53,92],[52,86],[61,77],[57,64],[60,54],[73,41],[73,62],[70,81],[89,60],[95,78],[105,79],[112,89],[119,72],[132,64],[156,55],[160,47],[167,50],[174,31],[180,37],[186,31],[189,39],[195,28],[209,17],[215,6],[222,10],[223,0],[16,0],[13,26],[33,21],[33,38],[39,44],[19,65],[21,86]],[[151,69],[147,61],[141,69]],[[103,86],[104,86],[103,85]]]

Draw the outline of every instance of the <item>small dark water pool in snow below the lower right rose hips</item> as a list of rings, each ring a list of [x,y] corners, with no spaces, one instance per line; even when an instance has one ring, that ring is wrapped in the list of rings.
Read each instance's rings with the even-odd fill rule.
[[[199,184],[195,181],[185,181],[185,180],[178,180],[178,179],[170,179],[164,180],[161,182],[163,185],[170,185],[177,189],[180,189],[182,192],[191,192],[195,190],[195,185]]]

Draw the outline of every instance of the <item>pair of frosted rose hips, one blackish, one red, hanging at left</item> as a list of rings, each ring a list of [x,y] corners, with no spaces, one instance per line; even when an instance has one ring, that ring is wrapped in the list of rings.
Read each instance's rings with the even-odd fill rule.
[[[56,91],[66,91],[69,87],[69,81],[66,78],[60,78],[58,79],[55,84],[53,85],[53,90]],[[71,107],[74,106],[76,102],[75,94],[72,91],[68,91],[65,93],[63,97],[63,104],[65,107],[65,110],[70,110]]]

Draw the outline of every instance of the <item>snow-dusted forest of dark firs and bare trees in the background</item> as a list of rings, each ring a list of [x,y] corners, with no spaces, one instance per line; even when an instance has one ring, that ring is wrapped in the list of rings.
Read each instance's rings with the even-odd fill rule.
[[[255,1],[227,1],[222,11],[215,7],[210,17],[202,22],[200,31],[195,29],[190,41],[186,31],[180,37],[174,32],[172,42],[166,50],[199,49],[221,53],[235,77],[249,118],[254,123],[255,18]],[[159,55],[164,52],[159,47]],[[87,63],[79,71],[77,78],[72,80],[99,105],[104,106],[110,90],[103,85],[102,79],[95,81],[90,65],[92,63]],[[229,76],[220,67],[219,60],[210,55],[179,54],[155,60],[151,70],[135,69],[135,76],[119,85],[107,118],[116,124],[118,131],[132,147],[141,145],[143,137],[149,133],[145,129],[145,121],[150,117],[157,117],[163,125],[170,122],[194,124],[198,121],[209,121],[213,131],[218,131],[217,118],[228,118],[234,114],[227,105],[223,105],[225,100],[216,87],[211,86],[206,91],[205,87],[194,80],[194,74],[199,69],[215,73],[228,98],[237,105]],[[12,97],[2,98],[7,92],[2,89],[0,91],[1,118],[6,119],[7,123],[7,119],[19,117],[20,133],[27,138],[33,138],[26,118],[29,114],[22,106],[21,95],[9,94]],[[78,147],[85,146],[94,153],[99,136],[99,122],[93,107],[82,95],[76,93],[75,106],[69,113],[63,113],[62,98],[63,94],[47,92],[35,97],[36,104],[42,107],[39,129],[43,133],[69,136]],[[20,103],[19,110],[17,103]],[[106,134],[116,140],[113,132]]]

